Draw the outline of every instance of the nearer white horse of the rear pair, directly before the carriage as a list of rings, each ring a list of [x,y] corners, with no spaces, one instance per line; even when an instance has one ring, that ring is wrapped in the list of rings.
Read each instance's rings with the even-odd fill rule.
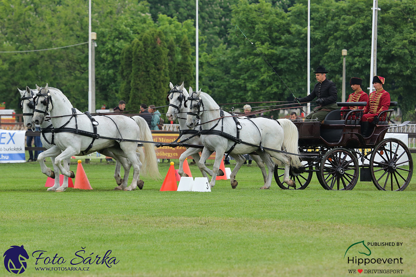
[[[201,140],[204,150],[202,151],[199,166],[204,164],[211,151],[215,151],[213,174],[209,183],[213,187],[224,152],[230,150],[235,144],[234,138],[237,135],[235,122],[227,112],[224,112],[223,117],[221,116],[220,107],[207,93],[201,92],[201,90],[193,92],[190,87],[189,94],[191,95],[188,98],[190,112],[187,114],[186,126],[194,128],[197,117],[200,117],[203,129]],[[235,144],[232,153],[245,154],[256,151],[259,154],[269,170],[267,182],[261,189],[269,189],[272,183],[275,163],[270,156],[276,158],[277,161],[284,165],[283,181],[291,187],[296,187],[295,182],[289,177],[289,167],[290,165],[296,168],[302,166],[299,156],[273,151],[273,149],[278,151],[283,149],[289,153],[299,153],[299,134],[296,126],[288,119],[273,120],[257,117],[251,119],[238,118],[238,121],[242,126],[240,130],[241,141]],[[228,136],[221,135],[221,130]],[[264,151],[261,151],[261,149],[264,149]]]

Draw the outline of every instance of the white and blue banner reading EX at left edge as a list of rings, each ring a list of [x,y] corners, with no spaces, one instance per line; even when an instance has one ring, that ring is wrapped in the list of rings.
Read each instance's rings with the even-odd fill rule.
[[[24,163],[26,131],[0,129],[0,163]]]

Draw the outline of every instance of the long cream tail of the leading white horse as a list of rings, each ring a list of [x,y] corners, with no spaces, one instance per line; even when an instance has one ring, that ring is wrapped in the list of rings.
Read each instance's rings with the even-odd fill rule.
[[[139,139],[144,141],[153,141],[152,131],[147,125],[146,120],[141,116],[132,117],[139,126]],[[141,147],[138,147],[140,149]],[[152,179],[162,178],[158,169],[158,161],[156,158],[156,150],[152,143],[143,143],[144,155],[140,155],[140,162],[143,164],[143,171],[146,175],[150,175]]]

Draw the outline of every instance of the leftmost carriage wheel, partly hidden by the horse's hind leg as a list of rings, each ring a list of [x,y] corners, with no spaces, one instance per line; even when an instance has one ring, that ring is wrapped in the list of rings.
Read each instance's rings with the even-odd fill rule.
[[[295,181],[296,190],[305,189],[309,185],[313,175],[312,164],[310,162],[302,162],[302,164],[304,164],[304,166],[300,167],[299,169],[294,168],[292,166],[289,169],[289,176],[291,180]],[[305,170],[308,170],[308,172]],[[278,165],[276,165],[274,174],[276,183],[282,190],[295,190],[294,188],[289,187],[286,183],[283,182],[283,167],[279,167]]]

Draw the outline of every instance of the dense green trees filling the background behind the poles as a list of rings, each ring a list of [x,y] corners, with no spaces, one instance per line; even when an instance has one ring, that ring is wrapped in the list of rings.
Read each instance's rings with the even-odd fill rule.
[[[403,119],[414,118],[416,105],[415,4],[378,1],[377,75],[386,78],[384,88],[398,101]],[[339,101],[342,49],[348,51],[347,94],[350,77],[362,78],[364,90],[370,83],[371,8],[368,0],[311,3],[311,72],[326,67]],[[48,83],[61,89],[74,107],[86,110],[88,44],[10,51],[87,42],[88,2],[7,0],[0,4],[0,15],[0,51],[9,51],[0,53],[0,101],[19,110],[16,87]],[[307,0],[200,0],[199,16],[199,85],[218,103],[306,95]],[[115,107],[121,99],[128,110],[141,103],[163,106],[169,82],[194,87],[194,18],[194,1],[92,1],[96,107]],[[311,74],[311,87],[314,80]]]

